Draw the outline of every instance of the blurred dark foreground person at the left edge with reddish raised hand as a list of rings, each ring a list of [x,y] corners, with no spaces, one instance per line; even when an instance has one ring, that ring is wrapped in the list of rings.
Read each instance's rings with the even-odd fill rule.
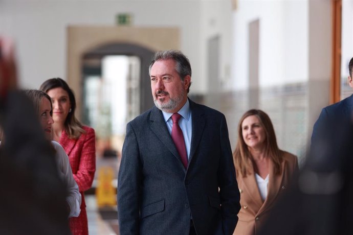
[[[15,90],[8,45],[0,38],[0,234],[70,234],[54,152],[32,103]]]

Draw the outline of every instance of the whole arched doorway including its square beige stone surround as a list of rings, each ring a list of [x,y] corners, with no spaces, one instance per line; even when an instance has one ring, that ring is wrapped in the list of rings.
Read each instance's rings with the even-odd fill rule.
[[[97,157],[121,152],[127,122],[151,108],[148,65],[156,51],[179,49],[178,28],[68,28],[67,81],[77,116],[97,135]]]

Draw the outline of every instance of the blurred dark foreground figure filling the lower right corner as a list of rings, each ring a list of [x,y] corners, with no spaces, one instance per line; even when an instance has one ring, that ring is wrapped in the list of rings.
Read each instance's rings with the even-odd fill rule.
[[[259,234],[352,234],[353,125],[337,119],[322,133]]]

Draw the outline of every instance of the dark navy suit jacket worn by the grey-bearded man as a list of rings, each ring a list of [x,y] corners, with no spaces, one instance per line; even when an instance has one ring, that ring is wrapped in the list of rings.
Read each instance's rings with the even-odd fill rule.
[[[120,234],[232,234],[240,209],[225,116],[190,101],[192,137],[185,169],[162,112],[126,127],[118,176]]]

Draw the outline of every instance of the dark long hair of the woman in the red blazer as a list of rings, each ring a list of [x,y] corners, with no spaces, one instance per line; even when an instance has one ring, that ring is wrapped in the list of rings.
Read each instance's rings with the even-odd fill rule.
[[[49,90],[58,88],[58,87],[68,92],[69,100],[71,104],[71,112],[68,113],[68,116],[66,117],[64,122],[65,131],[68,134],[69,138],[78,138],[82,133],[85,133],[85,131],[82,128],[83,125],[75,117],[75,110],[76,110],[75,95],[74,95],[74,92],[70,89],[68,83],[66,83],[61,78],[51,78],[43,82],[40,85],[39,89],[44,92],[48,92]]]

